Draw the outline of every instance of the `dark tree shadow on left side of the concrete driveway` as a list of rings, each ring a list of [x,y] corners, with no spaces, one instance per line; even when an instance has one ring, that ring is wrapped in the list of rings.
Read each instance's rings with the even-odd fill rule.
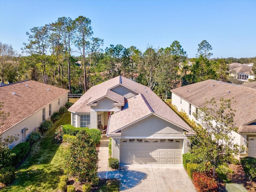
[[[142,182],[142,180],[145,180],[148,176],[144,172],[128,170],[128,167],[126,166],[121,166],[119,172],[119,177],[122,181],[120,182],[120,191],[137,186]]]

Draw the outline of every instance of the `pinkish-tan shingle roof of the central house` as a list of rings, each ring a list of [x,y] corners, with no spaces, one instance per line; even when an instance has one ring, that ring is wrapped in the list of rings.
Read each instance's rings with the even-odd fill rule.
[[[150,88],[118,76],[106,82],[90,88],[69,111],[74,113],[90,113],[90,103],[103,97],[112,98],[114,101],[123,102],[124,96],[113,94],[112,88],[122,85],[136,93],[136,96],[127,99],[121,111],[111,115],[108,126],[108,134],[114,134],[118,130],[132,124],[150,114],[154,114],[173,124],[176,124],[184,130],[190,131],[190,127],[184,122],[168,105],[166,105]],[[111,96],[110,96],[111,95]]]

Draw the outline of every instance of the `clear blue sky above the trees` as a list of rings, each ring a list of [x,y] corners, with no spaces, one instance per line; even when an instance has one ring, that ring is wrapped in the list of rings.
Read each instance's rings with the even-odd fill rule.
[[[256,0],[0,0],[0,41],[21,52],[26,32],[85,16],[94,37],[146,50],[178,40],[188,57],[207,40],[212,58],[256,56]]]

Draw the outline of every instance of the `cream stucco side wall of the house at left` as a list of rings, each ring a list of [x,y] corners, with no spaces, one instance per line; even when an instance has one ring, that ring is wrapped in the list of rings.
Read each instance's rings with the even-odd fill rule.
[[[58,99],[53,101],[52,104],[52,114],[55,111],[58,111],[60,107],[64,106],[65,103],[68,101],[68,94],[65,94],[64,96],[60,97],[60,105],[58,105]],[[10,114],[12,115],[12,114]],[[45,118],[46,120],[50,118],[49,116],[49,104],[45,106]],[[10,147],[16,146],[18,143],[22,142],[22,129],[27,128],[26,130],[26,138],[30,135],[32,131],[37,131],[37,128],[42,123],[42,109],[39,109],[35,114],[32,116],[24,119],[20,123],[16,124],[12,128],[10,128],[8,131],[4,132],[2,134],[2,139],[6,138],[7,135],[13,135],[19,138],[18,141],[15,141],[12,143]]]

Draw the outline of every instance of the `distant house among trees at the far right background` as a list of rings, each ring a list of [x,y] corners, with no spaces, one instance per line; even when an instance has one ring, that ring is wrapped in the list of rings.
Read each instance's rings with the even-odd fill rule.
[[[255,76],[252,75],[252,66],[253,63],[250,64],[240,64],[240,63],[232,63],[229,64],[230,70],[228,71],[230,76],[234,76],[238,80],[248,81],[248,79],[255,79]]]

